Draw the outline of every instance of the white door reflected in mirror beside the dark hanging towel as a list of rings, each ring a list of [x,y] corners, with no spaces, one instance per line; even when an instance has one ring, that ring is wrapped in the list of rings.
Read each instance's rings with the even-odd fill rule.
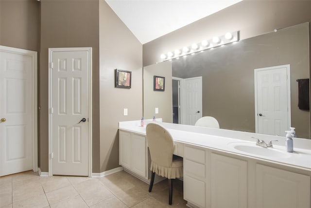
[[[255,69],[256,133],[285,135],[291,126],[290,65]]]

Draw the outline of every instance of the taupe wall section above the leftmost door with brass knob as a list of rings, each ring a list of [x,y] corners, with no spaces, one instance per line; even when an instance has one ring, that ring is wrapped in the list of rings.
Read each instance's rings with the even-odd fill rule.
[[[39,51],[39,1],[0,0],[0,45]]]

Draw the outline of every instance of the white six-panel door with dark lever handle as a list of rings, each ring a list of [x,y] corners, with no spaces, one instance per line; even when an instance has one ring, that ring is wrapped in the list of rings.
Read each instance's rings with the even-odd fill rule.
[[[87,176],[89,51],[50,53],[52,174]]]

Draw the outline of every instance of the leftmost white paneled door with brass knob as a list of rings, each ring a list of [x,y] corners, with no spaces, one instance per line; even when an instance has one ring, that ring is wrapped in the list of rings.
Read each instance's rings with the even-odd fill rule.
[[[0,176],[33,169],[36,52],[24,53],[0,50]]]

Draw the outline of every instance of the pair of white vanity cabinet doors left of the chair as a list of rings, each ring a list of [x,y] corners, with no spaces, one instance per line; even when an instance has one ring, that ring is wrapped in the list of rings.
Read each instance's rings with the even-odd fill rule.
[[[138,176],[148,179],[146,137],[119,131],[119,164]]]

